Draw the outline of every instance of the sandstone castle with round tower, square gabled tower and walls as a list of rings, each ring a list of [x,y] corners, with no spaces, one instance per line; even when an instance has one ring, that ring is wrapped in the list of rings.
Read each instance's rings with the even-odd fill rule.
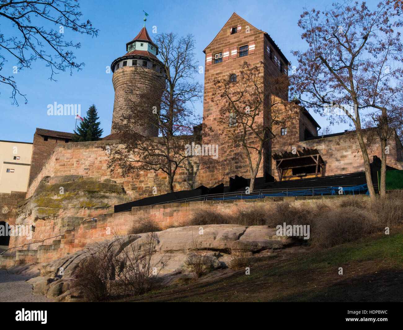
[[[205,76],[204,76],[204,124],[214,129],[212,134],[202,133],[202,144],[218,145],[217,157],[191,157],[190,163],[183,165],[174,181],[174,190],[189,190],[200,185],[214,187],[217,184],[228,184],[229,177],[234,175],[250,177],[249,166],[245,152],[242,148],[227,148],[224,136],[220,135],[220,126],[216,118],[219,110],[211,101],[214,92],[214,77],[236,79],[239,65],[247,61],[251,65],[264,63],[262,79],[269,76],[278,76],[280,73],[288,74],[289,61],[274,43],[268,33],[257,29],[236,13],[224,24],[222,29],[204,49]],[[32,144],[32,154],[29,164],[29,174],[25,173],[27,189],[16,189],[0,192],[0,208],[7,212],[0,212],[0,222],[15,224],[17,218],[17,204],[31,198],[44,177],[60,175],[81,175],[84,178],[96,178],[99,181],[112,179],[123,186],[125,193],[131,200],[152,196],[153,187],[159,187],[159,193],[167,190],[167,178],[164,173],[142,171],[139,177],[120,177],[118,173],[108,171],[108,155],[101,146],[118,144],[119,140],[113,130],[113,123],[122,120],[123,114],[129,110],[127,98],[130,97],[127,85],[137,79],[138,68],[150,72],[153,79],[144,81],[145,89],[152,89],[154,84],[163,83],[164,65],[158,59],[158,47],[154,44],[145,27],[139,34],[126,44],[126,54],[112,62],[112,83],[115,90],[114,109],[112,115],[111,134],[100,141],[71,142],[72,134],[37,129]],[[283,97],[288,100],[288,93]],[[287,101],[285,100],[285,101]],[[364,162],[358,143],[354,139],[346,138],[344,132],[318,136],[320,126],[312,115],[303,107],[297,105],[298,117],[287,127],[281,128],[281,134],[264,148],[263,161],[260,164],[258,177],[271,175],[277,181],[285,179],[301,179],[306,177],[337,175],[364,171]],[[230,120],[230,119],[229,119]],[[138,131],[147,136],[158,136],[158,132],[150,126],[145,126],[139,119]],[[190,138],[190,137],[189,137]],[[2,141],[11,143],[10,141]],[[0,142],[0,145],[1,143]],[[189,143],[194,142],[189,140]],[[7,157],[19,157],[12,153],[11,147],[3,151]],[[316,149],[317,160],[301,163],[299,167],[279,164],[273,155],[289,153],[296,150]],[[2,149],[1,149],[2,150]],[[27,151],[26,153],[29,153]],[[369,147],[370,157],[380,156],[380,143],[375,142]],[[4,156],[6,157],[6,156]],[[22,162],[21,158],[21,162]],[[8,160],[4,160],[6,163]],[[399,169],[403,168],[403,147],[396,136],[390,145],[388,165]],[[27,160],[25,160],[27,162]],[[9,163],[17,163],[14,158]],[[191,169],[189,166],[191,165]],[[17,165],[12,165],[17,168]],[[6,166],[8,168],[8,166]],[[3,173],[2,167],[0,187],[4,175],[18,175]],[[21,166],[24,167],[24,166]],[[191,171],[191,175],[189,172]],[[21,175],[21,174],[20,174]],[[7,182],[11,182],[8,180]],[[24,181],[25,182],[25,181]],[[98,213],[97,213],[98,212]],[[102,213],[102,212],[101,212]],[[101,214],[100,211],[88,209],[87,216],[93,217]],[[81,214],[82,215],[82,214]],[[172,217],[172,215],[170,215]],[[33,223],[35,219],[32,219]],[[53,220],[52,220],[53,221]],[[54,220],[56,221],[56,220]],[[34,240],[50,237],[58,233],[54,227],[44,225],[44,230],[34,233]],[[47,226],[47,227],[46,227]],[[37,225],[39,228],[39,225]],[[46,228],[46,229],[45,229]],[[39,235],[40,233],[40,235]],[[55,235],[56,236],[56,235]],[[14,243],[16,245],[17,243]],[[0,244],[1,245],[1,244]]]

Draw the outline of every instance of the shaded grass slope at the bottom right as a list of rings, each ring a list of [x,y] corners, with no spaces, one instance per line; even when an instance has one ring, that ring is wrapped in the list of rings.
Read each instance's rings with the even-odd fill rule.
[[[339,275],[343,267],[343,275]],[[220,274],[217,276],[217,274]],[[215,274],[214,274],[215,273]],[[121,301],[401,301],[403,229]]]

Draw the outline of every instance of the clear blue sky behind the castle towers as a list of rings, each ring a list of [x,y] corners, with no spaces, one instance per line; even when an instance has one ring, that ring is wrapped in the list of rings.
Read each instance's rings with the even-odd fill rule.
[[[0,140],[32,142],[35,128],[46,128],[64,132],[73,132],[75,120],[69,116],[48,116],[47,106],[58,104],[81,104],[81,116],[94,103],[100,116],[103,136],[110,134],[114,90],[112,73],[106,73],[106,66],[125,54],[125,45],[132,40],[143,27],[143,12],[147,17],[146,27],[151,37],[152,27],[157,33],[174,32],[179,35],[191,33],[195,36],[196,55],[200,65],[204,65],[204,48],[212,41],[222,26],[236,12],[243,19],[270,34],[291,64],[295,58],[291,50],[304,50],[305,42],[301,40],[301,29],[297,26],[299,15],[304,6],[323,9],[331,6],[332,1],[80,1],[83,19],[89,19],[93,26],[100,29],[98,37],[91,38],[66,31],[68,40],[81,42],[81,48],[75,50],[77,62],[85,62],[83,70],[60,72],[57,82],[50,81],[50,70],[44,62],[37,61],[31,70],[25,69],[14,74],[18,88],[26,94],[28,103],[18,99],[19,106],[12,105],[11,89],[1,85]],[[375,1],[367,2],[375,8]],[[7,35],[12,29],[0,19],[0,31]],[[54,26],[52,26],[55,28]],[[3,68],[12,72],[14,62],[8,62]],[[204,75],[198,77],[204,82]],[[197,111],[202,113],[202,105]],[[325,127],[326,118],[310,111],[320,126]],[[335,126],[334,132],[347,129],[347,125]]]

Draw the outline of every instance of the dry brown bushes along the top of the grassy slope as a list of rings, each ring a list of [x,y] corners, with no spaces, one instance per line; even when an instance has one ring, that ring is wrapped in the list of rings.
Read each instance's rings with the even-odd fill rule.
[[[310,225],[310,245],[327,248],[353,241],[403,223],[403,191],[395,191],[384,198],[367,200],[361,196],[346,196],[310,204],[292,205],[277,202],[274,207],[249,206],[237,209],[232,215],[201,210],[185,225]],[[237,252],[234,254],[234,258]]]

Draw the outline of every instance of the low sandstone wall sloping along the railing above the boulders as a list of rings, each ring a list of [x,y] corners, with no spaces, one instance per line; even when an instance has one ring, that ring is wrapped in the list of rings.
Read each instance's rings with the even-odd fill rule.
[[[17,251],[16,256],[0,257],[0,268],[7,268],[24,262],[50,262],[67,253],[82,250],[87,244],[112,239],[114,233],[125,235],[131,227],[144,217],[150,217],[162,228],[183,225],[201,210],[216,210],[226,214],[235,214],[237,210],[251,207],[274,207],[278,201],[289,202],[294,205],[310,204],[320,200],[334,200],[345,196],[302,196],[302,197],[273,197],[253,200],[225,200],[225,201],[200,201],[163,205],[150,205],[133,207],[131,211],[120,213],[101,214],[97,220],[81,221],[75,228],[66,228],[62,236],[46,240],[37,245],[31,245],[30,250]],[[368,196],[355,196],[355,198],[368,199]],[[71,219],[75,221],[75,219]],[[279,221],[283,221],[280,219]],[[73,224],[72,223],[72,224]],[[52,231],[60,224],[48,221],[37,222],[33,238],[27,243],[41,241],[56,234]],[[41,237],[39,237],[39,233]],[[42,237],[42,235],[44,237]],[[45,235],[47,235],[45,237]],[[59,233],[60,235],[60,233]],[[56,235],[54,235],[56,236]]]

